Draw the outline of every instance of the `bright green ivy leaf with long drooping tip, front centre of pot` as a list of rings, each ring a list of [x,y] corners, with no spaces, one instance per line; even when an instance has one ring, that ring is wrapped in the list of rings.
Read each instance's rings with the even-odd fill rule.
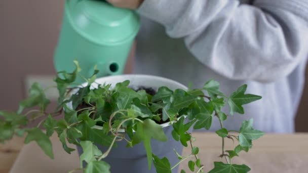
[[[143,123],[138,121],[137,130],[133,137],[132,143],[135,145],[143,141],[149,169],[151,168],[152,163],[152,150],[150,145],[151,138],[162,142],[166,142],[168,140],[162,126],[157,124],[155,121],[151,119],[145,119]]]

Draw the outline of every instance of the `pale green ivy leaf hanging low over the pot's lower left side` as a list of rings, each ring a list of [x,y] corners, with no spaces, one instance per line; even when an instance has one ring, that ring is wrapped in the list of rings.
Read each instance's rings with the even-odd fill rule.
[[[95,156],[102,155],[102,152],[91,141],[81,141],[80,145],[83,148],[83,153],[80,155],[81,164],[83,161],[87,163],[96,161]]]

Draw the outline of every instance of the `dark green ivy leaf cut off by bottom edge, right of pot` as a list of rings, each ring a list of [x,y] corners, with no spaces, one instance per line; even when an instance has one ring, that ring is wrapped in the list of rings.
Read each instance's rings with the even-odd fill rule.
[[[246,173],[251,169],[245,164],[225,164],[223,162],[214,162],[214,168],[209,173]]]

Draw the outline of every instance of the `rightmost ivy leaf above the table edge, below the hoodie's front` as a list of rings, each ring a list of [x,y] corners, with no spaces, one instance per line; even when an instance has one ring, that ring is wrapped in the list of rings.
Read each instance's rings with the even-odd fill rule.
[[[244,120],[240,128],[239,143],[242,147],[252,146],[252,140],[256,140],[264,135],[263,132],[252,128],[253,119]]]

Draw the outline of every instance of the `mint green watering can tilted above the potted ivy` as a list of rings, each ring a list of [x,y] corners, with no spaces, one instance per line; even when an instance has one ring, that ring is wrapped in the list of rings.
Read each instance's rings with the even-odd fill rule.
[[[65,0],[64,16],[54,55],[57,72],[72,72],[74,60],[88,78],[122,74],[140,27],[135,11],[99,0]],[[75,82],[84,82],[78,76]]]

